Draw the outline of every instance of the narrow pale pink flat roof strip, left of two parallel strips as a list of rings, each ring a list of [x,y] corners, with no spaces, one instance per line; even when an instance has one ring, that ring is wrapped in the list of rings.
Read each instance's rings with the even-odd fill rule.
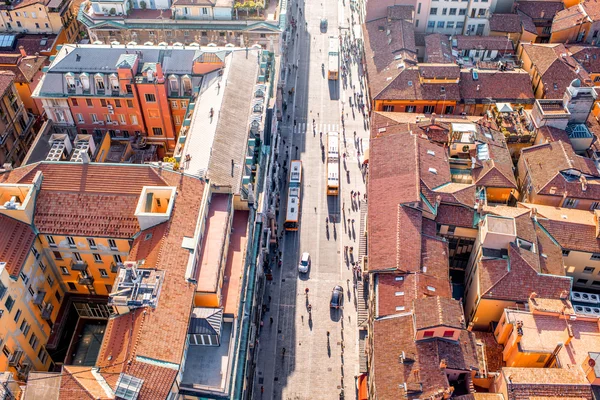
[[[217,291],[229,212],[229,195],[213,194],[204,228],[200,273],[196,289],[198,292],[215,293]]]

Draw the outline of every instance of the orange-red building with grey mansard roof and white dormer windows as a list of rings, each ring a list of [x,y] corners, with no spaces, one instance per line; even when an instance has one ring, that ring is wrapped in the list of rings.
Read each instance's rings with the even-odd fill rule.
[[[66,45],[34,97],[59,126],[111,138],[144,136],[165,156],[175,149],[205,74],[222,66],[216,53],[195,48]]]

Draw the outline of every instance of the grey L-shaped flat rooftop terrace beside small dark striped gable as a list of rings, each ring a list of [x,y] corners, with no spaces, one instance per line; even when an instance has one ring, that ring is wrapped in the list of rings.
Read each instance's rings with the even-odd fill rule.
[[[185,359],[181,388],[226,389],[231,369],[231,336],[233,323],[223,322],[220,346],[190,345]]]

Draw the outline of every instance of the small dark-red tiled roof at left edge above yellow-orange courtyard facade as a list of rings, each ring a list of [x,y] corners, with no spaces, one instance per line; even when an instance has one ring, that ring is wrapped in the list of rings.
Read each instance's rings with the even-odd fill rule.
[[[31,226],[0,214],[0,263],[10,276],[19,276],[35,237]]]

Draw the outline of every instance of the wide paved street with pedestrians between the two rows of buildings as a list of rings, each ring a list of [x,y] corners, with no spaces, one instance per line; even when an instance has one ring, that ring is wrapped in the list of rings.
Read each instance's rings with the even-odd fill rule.
[[[359,203],[366,192],[359,152],[364,153],[368,147],[368,131],[366,117],[349,105],[349,97],[353,97],[353,102],[356,99],[352,85],[357,91],[362,86],[357,79],[357,63],[347,64],[349,77],[354,81],[348,80],[348,85],[344,85],[344,57],[340,49],[340,79],[327,79],[329,37],[348,35],[350,43],[354,36],[348,24],[354,18],[350,17],[347,1],[306,0],[298,5],[292,3],[289,9],[297,28],[291,35],[288,33],[293,43],[288,42],[284,66],[287,113],[281,129],[279,160],[288,171],[291,160],[302,161],[300,229],[283,233],[279,242],[282,266],[273,269],[273,280],[267,283],[267,311],[258,338],[254,398],[335,399],[343,395],[355,399],[359,357],[356,286],[344,246],[354,248],[353,255],[348,256],[350,261],[358,261]],[[301,15],[305,10],[308,14]],[[328,20],[326,32],[320,27],[323,18]],[[358,27],[358,21],[355,22]],[[360,29],[355,31],[360,34]],[[289,94],[291,88],[294,91]],[[347,153],[340,165],[339,196],[326,193],[327,172],[320,133],[325,141],[330,131],[340,133],[340,157],[344,151]],[[282,174],[279,232],[285,219],[287,180],[288,176]],[[354,201],[351,191],[360,192]],[[312,258],[307,274],[298,273],[303,252],[309,252]],[[344,288],[344,307],[340,310],[329,307],[336,285]]]

